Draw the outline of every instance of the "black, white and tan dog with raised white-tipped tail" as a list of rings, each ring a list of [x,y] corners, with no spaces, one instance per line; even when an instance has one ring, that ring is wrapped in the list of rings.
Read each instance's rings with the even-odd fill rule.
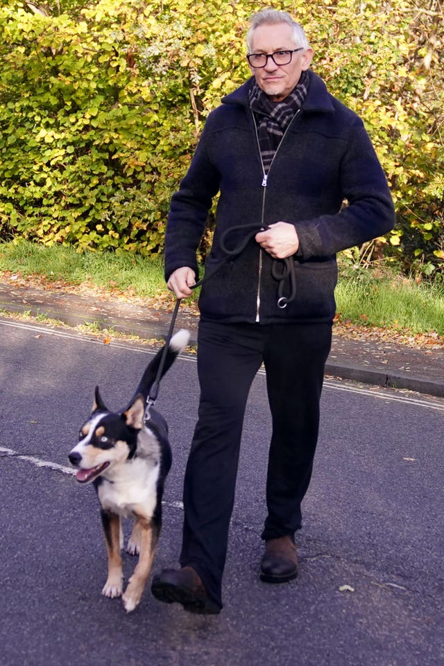
[[[164,376],[188,340],[189,331],[180,330],[168,347],[165,344],[157,352],[122,412],[108,410],[96,387],[92,414],[80,429],[78,444],[68,455],[69,462],[77,469],[77,481],[92,482],[101,506],[108,552],[108,579],[102,594],[123,595],[123,606],[128,613],[139,604],[151,571],[162,526],[164,482],[172,459],[167,421],[151,406],[146,419],[146,400],[161,363]],[[123,594],[121,518],[128,517],[134,518],[134,526],[127,552],[138,554],[139,561]]]

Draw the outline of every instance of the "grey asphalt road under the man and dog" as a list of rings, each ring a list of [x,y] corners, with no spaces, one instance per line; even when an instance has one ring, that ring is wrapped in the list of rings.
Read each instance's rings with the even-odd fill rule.
[[[328,380],[297,581],[259,581],[268,410],[250,394],[221,615],[101,597],[105,547],[92,487],[67,453],[96,383],[123,407],[151,358],[0,319],[1,666],[443,666],[444,401]],[[176,566],[196,362],[164,378],[174,462],[154,570]],[[128,532],[129,525],[126,527]],[[134,559],[125,556],[128,575]],[[344,587],[345,586],[345,587]]]

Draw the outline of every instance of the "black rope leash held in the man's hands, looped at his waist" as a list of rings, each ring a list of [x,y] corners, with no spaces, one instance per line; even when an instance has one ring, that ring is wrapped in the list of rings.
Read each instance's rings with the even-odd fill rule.
[[[267,227],[268,228],[268,227]],[[241,240],[241,242],[238,245],[235,245],[231,249],[227,247],[225,240],[227,236],[232,234],[233,231],[248,231],[248,233],[244,236],[244,238]],[[225,263],[230,259],[230,256],[237,256],[238,254],[241,254],[241,252],[244,251],[246,246],[248,245],[249,241],[253,236],[259,233],[259,231],[264,231],[264,227],[257,225],[257,224],[252,224],[252,225],[236,225],[235,227],[230,227],[230,229],[225,229],[223,231],[223,234],[221,234],[221,239],[219,240],[219,245],[221,247],[222,252],[226,254],[225,261],[221,261],[219,266],[216,266],[216,268],[209,274],[205,275],[202,279],[200,279],[198,282],[196,282],[194,285],[190,287],[190,289],[197,289],[202,285],[204,282],[207,280],[210,280],[214,275],[221,270],[221,268],[225,265]],[[278,308],[286,308],[288,303],[291,303],[296,297],[296,274],[294,270],[294,263],[293,260],[290,257],[286,257],[284,259],[278,259],[278,260],[273,260],[273,263],[271,264],[271,274],[275,280],[279,282],[278,286]],[[290,295],[289,296],[284,296],[283,291],[284,291],[284,283],[285,280],[289,278],[290,281]],[[179,308],[180,308],[180,302],[182,299],[178,298],[176,299],[176,305],[174,306],[173,309],[173,315],[171,316],[171,322],[169,325],[168,333],[167,333],[167,338],[165,339],[165,344],[164,344],[164,349],[162,352],[162,357],[160,358],[160,363],[159,367],[157,369],[157,374],[155,376],[155,380],[153,384],[151,385],[150,392],[148,394],[148,400],[146,401],[146,410],[145,410],[145,419],[149,419],[149,410],[150,408],[154,405],[155,401],[157,400],[157,395],[159,393],[159,385],[160,385],[160,379],[162,378],[162,372],[164,369],[165,365],[165,360],[167,358],[167,352],[168,352],[168,347],[169,343],[171,342],[171,338],[173,337],[173,331],[174,331],[174,326],[176,326],[176,319],[178,316]]]

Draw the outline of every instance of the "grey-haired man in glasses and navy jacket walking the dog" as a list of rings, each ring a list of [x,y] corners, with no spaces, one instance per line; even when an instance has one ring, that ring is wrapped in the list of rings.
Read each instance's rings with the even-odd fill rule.
[[[259,575],[269,583],[296,577],[294,535],[318,437],[335,254],[385,234],[394,218],[364,125],[309,70],[313,51],[300,25],[287,12],[262,10],[247,46],[253,76],[208,117],[171,200],[165,238],[168,286],[185,298],[220,193],[199,299],[200,404],[185,474],[182,568],[164,570],[152,586],[160,601],[196,613],[222,607],[244,410],[262,362],[273,432]],[[239,254],[224,252],[242,245]]]

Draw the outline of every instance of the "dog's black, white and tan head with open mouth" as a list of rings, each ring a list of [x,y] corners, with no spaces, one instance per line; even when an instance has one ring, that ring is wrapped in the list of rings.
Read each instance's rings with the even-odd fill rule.
[[[80,428],[79,442],[68,455],[80,483],[93,481],[105,470],[135,455],[137,436],[144,426],[145,400],[135,397],[125,412],[110,412],[96,387],[93,411]]]

